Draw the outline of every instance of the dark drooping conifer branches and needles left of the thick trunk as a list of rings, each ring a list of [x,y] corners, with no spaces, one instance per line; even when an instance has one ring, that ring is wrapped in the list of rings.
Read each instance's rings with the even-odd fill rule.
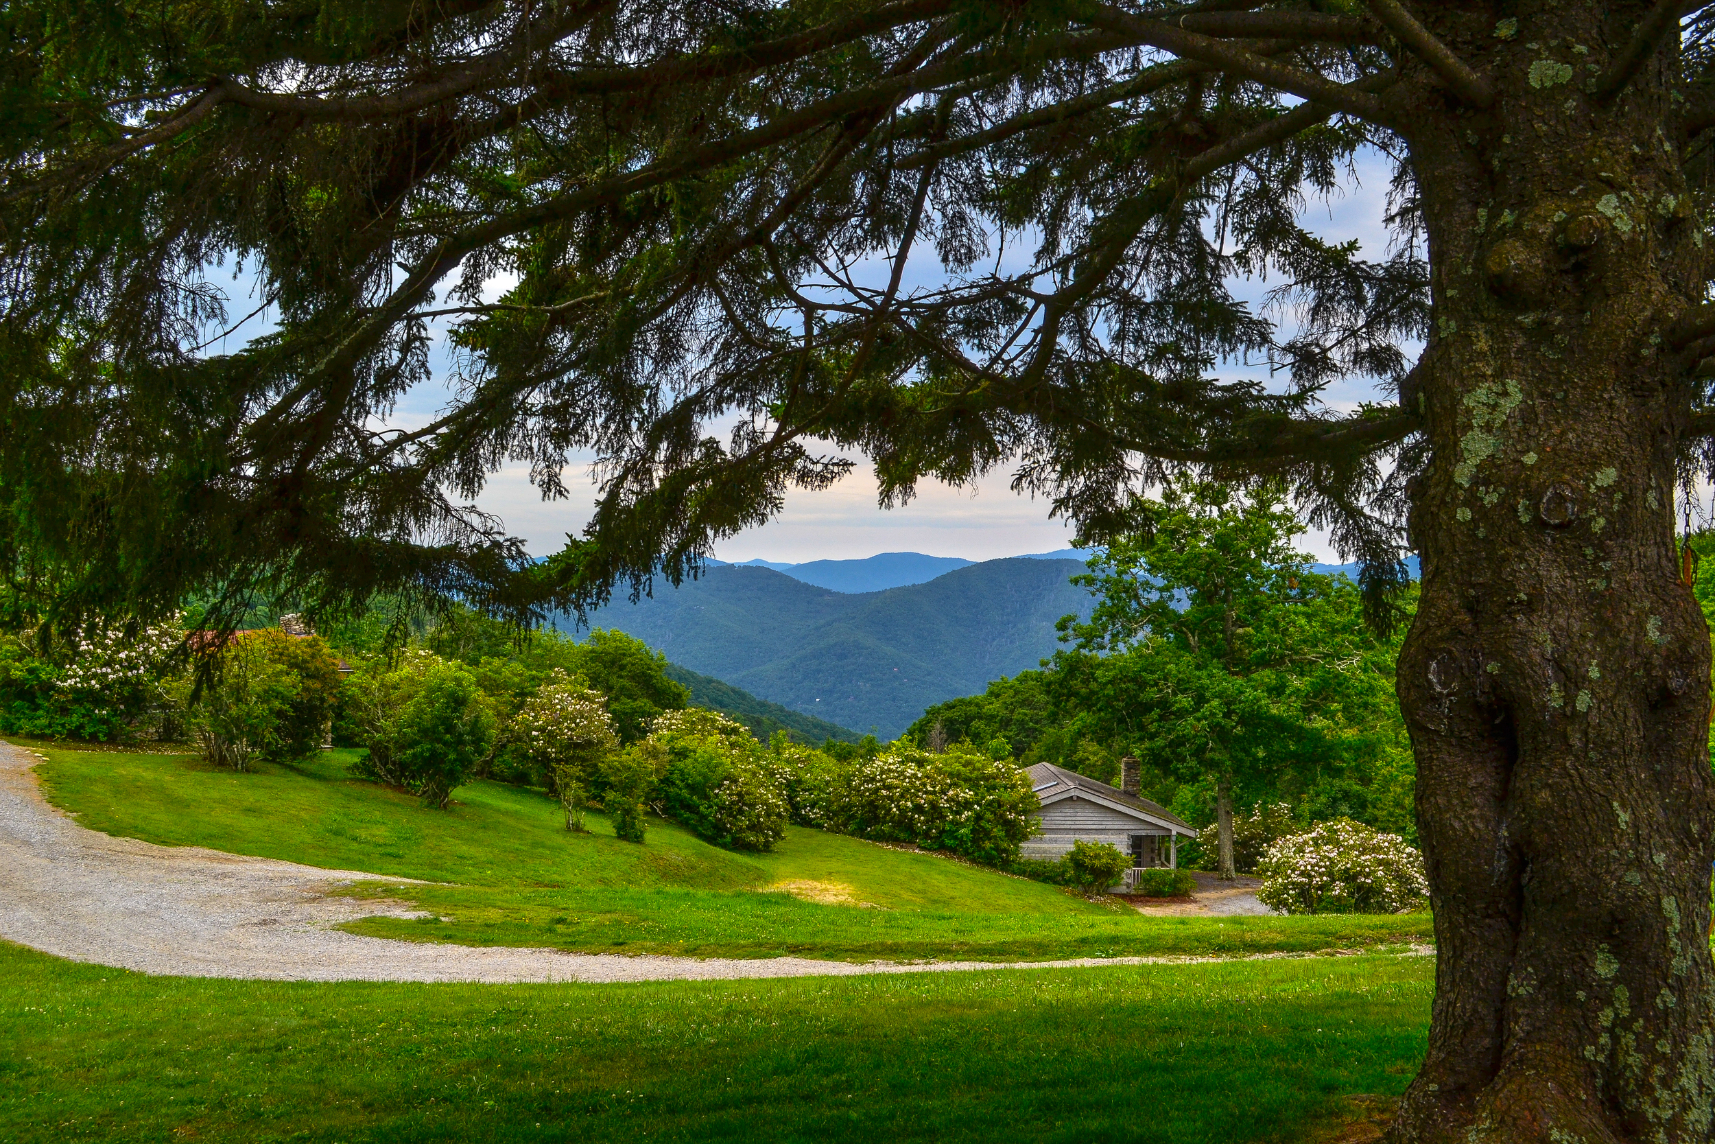
[[[1372,604],[1403,581],[1413,415],[1319,394],[1403,384],[1427,333],[1411,172],[1379,261],[1298,223],[1360,148],[1399,154],[1375,94],[1399,50],[1345,5],[43,0],[0,21],[0,554],[22,614],[257,585],[321,612],[377,590],[585,609],[693,575],[849,451],[890,504],[1014,465],[1091,535],[1170,472],[1261,472],[1363,561]],[[1273,309],[1238,274],[1278,283]],[[226,352],[252,304],[273,329]],[[391,429],[432,321],[454,394]],[[1285,382],[1216,376],[1238,358]],[[502,463],[564,496],[575,455],[599,458],[597,513],[535,564],[470,503]]]

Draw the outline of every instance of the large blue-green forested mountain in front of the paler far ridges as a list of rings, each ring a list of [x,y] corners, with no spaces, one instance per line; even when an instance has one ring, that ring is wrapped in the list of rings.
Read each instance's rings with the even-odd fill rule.
[[[931,703],[1053,653],[1055,621],[1087,614],[1077,561],[984,561],[887,592],[849,595],[768,568],[722,564],[638,604],[595,612],[674,664],[818,719],[902,732]]]

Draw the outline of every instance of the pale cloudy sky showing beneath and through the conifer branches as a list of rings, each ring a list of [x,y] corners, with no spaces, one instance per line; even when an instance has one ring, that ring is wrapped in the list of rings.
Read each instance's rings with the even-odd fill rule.
[[[1379,161],[1365,163],[1358,184],[1348,185],[1346,194],[1333,202],[1312,202],[1303,221],[1329,240],[1357,238],[1363,257],[1382,259],[1387,252],[1382,226],[1386,190],[1387,168]],[[1276,285],[1279,283],[1240,281],[1235,283],[1235,293],[1261,305],[1262,295]],[[496,283],[496,295],[501,290],[504,285]],[[245,314],[256,304],[244,297],[240,283],[233,283],[228,292],[232,293],[228,310],[233,314]],[[235,350],[237,343],[266,333],[268,328],[264,314],[247,322],[242,333],[228,338],[225,345],[211,350],[216,353]],[[1221,376],[1264,377],[1266,370],[1230,365],[1221,369]],[[1336,386],[1326,396],[1338,408],[1353,408],[1369,398],[1370,391],[1362,384]],[[405,429],[427,424],[446,400],[448,391],[442,384],[418,386],[400,403],[391,422]],[[873,468],[863,458],[854,460],[859,460],[859,465],[833,489],[789,492],[784,513],[767,525],[717,544],[715,554],[727,561],[765,557],[803,563],[912,551],[981,561],[1046,552],[1072,544],[1072,528],[1065,521],[1050,520],[1046,501],[1010,491],[1010,470],[990,473],[974,489],[924,482],[918,497],[907,506],[883,511],[876,506]],[[566,533],[583,528],[595,503],[595,487],[581,467],[568,470],[566,487],[571,491],[568,499],[544,503],[530,485],[528,468],[511,465],[494,473],[478,504],[501,516],[508,532],[523,537],[533,556],[547,556],[564,545]],[[1303,537],[1303,547],[1319,559],[1336,559],[1326,537],[1310,533]]]

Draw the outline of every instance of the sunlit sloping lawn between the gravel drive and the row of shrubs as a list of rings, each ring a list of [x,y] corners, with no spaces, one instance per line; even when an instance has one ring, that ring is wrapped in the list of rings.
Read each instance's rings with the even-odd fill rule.
[[[772,854],[732,854],[650,820],[621,842],[600,815],[564,830],[556,803],[496,782],[460,787],[448,811],[350,779],[353,751],[254,774],[194,756],[31,744],[57,806],[84,825],[172,846],[403,875],[425,921],[370,918],[376,936],[583,952],[833,959],[1108,957],[1386,947],[1427,940],[1427,914],[1387,918],[1144,918],[1060,888],[931,854],[792,827]],[[852,904],[767,892],[818,883]]]

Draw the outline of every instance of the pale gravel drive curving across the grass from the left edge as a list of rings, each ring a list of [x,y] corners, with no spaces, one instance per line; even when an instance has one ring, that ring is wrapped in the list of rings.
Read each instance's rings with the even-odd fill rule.
[[[406,882],[190,846],[115,839],[41,798],[38,755],[0,743],[0,938],[118,969],[264,981],[669,981],[1050,969],[1211,960],[871,962],[621,957],[393,942],[333,926],[405,902],[329,897],[352,882]],[[1264,955],[1269,957],[1269,955]]]

